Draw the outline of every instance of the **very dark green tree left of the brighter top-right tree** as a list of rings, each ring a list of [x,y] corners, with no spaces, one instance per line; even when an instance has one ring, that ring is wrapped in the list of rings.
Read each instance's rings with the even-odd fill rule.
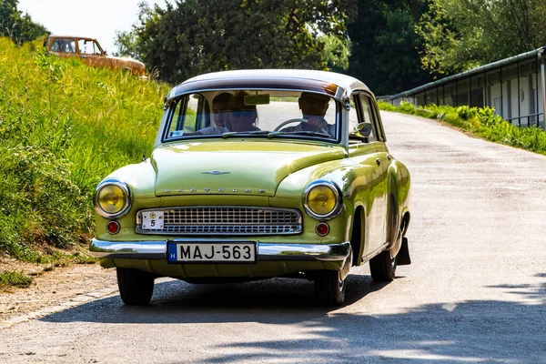
[[[349,74],[376,95],[395,94],[431,80],[420,69],[422,35],[414,28],[426,0],[356,0],[359,13],[347,25],[352,42]]]

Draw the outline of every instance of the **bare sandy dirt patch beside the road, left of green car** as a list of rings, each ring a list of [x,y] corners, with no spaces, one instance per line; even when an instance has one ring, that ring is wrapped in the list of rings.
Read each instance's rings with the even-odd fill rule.
[[[44,271],[44,269],[53,269]],[[70,264],[47,268],[44,265],[0,258],[0,271],[15,270],[35,275],[29,288],[6,288],[0,291],[0,322],[60,305],[72,298],[97,289],[116,286],[116,270],[98,264]]]

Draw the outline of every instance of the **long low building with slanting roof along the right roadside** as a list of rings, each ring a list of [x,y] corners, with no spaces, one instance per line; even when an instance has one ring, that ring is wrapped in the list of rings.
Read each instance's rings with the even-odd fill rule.
[[[517,126],[546,129],[546,46],[389,96],[394,105],[490,106]]]

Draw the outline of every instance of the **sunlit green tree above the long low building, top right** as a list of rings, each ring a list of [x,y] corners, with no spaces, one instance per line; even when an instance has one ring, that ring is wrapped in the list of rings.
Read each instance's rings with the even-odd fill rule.
[[[422,66],[445,76],[546,44],[542,0],[430,0],[416,30]]]

